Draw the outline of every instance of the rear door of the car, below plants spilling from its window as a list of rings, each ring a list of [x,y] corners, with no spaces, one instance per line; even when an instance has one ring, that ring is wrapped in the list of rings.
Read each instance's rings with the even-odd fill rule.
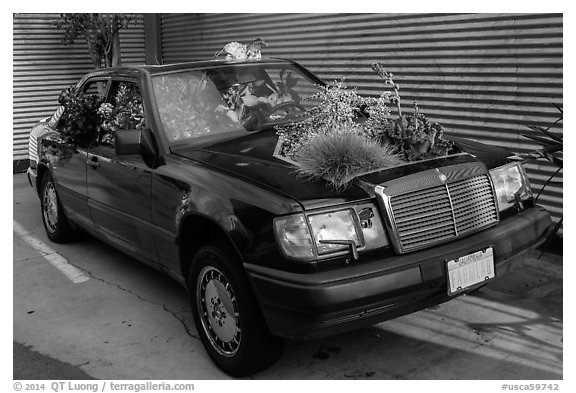
[[[79,94],[97,95],[104,100],[108,88],[108,80],[102,78],[87,79],[80,88]],[[57,124],[56,128],[62,124]],[[88,145],[91,141],[84,141],[80,145],[72,146],[64,142],[59,143],[58,159],[53,162],[52,173],[56,180],[58,196],[68,215],[76,221],[91,225],[88,209],[88,191],[86,187],[86,160]]]

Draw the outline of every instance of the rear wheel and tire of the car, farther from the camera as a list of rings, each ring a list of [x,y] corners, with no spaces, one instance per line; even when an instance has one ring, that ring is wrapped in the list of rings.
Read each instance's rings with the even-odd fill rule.
[[[77,237],[64,214],[62,204],[56,192],[56,183],[49,173],[42,177],[40,186],[40,208],[46,235],[55,243],[68,243]]]

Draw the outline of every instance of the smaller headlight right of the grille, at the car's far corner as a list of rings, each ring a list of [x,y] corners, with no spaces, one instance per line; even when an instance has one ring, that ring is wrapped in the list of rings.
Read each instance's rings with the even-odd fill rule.
[[[522,201],[532,198],[530,182],[522,164],[512,163],[492,169],[490,176],[500,211],[513,207],[517,197]]]

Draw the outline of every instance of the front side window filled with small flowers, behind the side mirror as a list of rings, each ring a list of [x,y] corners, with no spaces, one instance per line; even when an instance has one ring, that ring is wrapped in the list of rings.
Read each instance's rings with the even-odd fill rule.
[[[146,124],[138,84],[114,81],[108,96],[110,99],[98,110],[102,118],[100,143],[113,147],[116,132],[142,129]]]

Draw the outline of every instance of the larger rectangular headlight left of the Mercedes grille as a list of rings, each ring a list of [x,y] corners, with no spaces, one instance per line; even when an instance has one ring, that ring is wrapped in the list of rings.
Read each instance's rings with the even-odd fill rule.
[[[372,203],[280,217],[274,230],[284,254],[304,261],[346,253],[351,244],[360,250],[389,245]]]

